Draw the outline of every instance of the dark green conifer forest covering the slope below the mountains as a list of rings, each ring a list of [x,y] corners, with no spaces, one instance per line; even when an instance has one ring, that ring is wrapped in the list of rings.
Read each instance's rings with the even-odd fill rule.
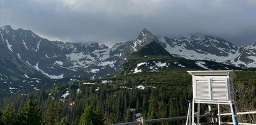
[[[256,73],[235,71],[235,74],[238,76],[234,82],[237,112],[255,110]],[[144,79],[142,74],[122,75],[109,78],[112,82],[107,84],[84,84],[97,80],[79,81],[52,90],[12,95],[0,103],[1,124],[114,124],[136,121],[141,116],[146,119],[186,116],[188,101],[192,99],[191,77],[185,71],[158,75],[162,79]],[[142,85],[145,88],[140,88]],[[67,92],[69,95],[62,98]],[[201,105],[205,109],[202,114],[207,112],[206,107]],[[255,115],[239,116],[239,120],[255,123]],[[161,124],[184,124],[184,121]]]

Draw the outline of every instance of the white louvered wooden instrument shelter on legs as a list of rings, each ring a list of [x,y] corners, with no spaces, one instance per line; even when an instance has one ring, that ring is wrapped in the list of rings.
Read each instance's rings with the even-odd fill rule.
[[[200,104],[230,105],[233,124],[238,124],[235,111],[233,71],[187,71],[192,75],[192,124],[194,125],[194,106],[197,103],[197,124],[199,124]],[[190,114],[188,113],[188,116]],[[220,125],[220,115],[218,115]]]

